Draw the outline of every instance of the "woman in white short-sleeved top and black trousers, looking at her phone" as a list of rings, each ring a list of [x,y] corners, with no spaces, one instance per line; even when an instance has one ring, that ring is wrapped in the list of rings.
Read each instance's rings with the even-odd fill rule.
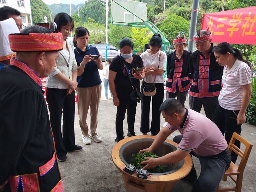
[[[140,132],[142,135],[155,136],[160,131],[160,118],[161,112],[159,111],[160,105],[164,100],[164,71],[166,68],[166,53],[160,51],[162,46],[162,39],[160,34],[154,34],[149,41],[149,49],[141,53],[140,57],[143,60],[145,71],[145,78],[142,81],[141,92],[145,84],[154,84],[156,87],[156,94],[154,96],[143,95],[141,99],[141,120]],[[149,130],[149,110],[152,98],[152,118]]]

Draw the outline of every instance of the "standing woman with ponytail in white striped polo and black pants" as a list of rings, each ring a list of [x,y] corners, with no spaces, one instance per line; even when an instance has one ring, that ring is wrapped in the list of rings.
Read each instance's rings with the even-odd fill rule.
[[[224,66],[219,103],[216,106],[213,122],[219,127],[229,144],[234,132],[241,135],[241,124],[245,122],[245,111],[252,95],[252,71],[250,64],[243,59],[239,49],[223,42],[214,47],[216,61]],[[240,148],[240,142],[235,145]],[[231,153],[231,161],[236,163],[237,154]]]

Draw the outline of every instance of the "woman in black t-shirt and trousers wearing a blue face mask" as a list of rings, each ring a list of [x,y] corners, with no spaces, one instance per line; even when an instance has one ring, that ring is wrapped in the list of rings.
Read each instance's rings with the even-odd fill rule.
[[[133,55],[133,43],[128,38],[123,38],[119,42],[120,55],[117,55],[110,63],[108,82],[110,90],[113,94],[114,106],[117,106],[116,112],[116,142],[124,139],[123,131],[123,121],[125,112],[127,109],[127,124],[128,124],[128,133],[127,136],[135,136],[134,132],[134,122],[136,115],[136,106],[137,102],[130,99],[129,95],[132,92],[132,84],[135,89],[140,89],[140,80],[145,77],[144,71],[136,75],[136,68],[143,67],[142,59],[139,55]],[[126,69],[126,65],[129,75],[132,80],[130,82],[129,76]]]

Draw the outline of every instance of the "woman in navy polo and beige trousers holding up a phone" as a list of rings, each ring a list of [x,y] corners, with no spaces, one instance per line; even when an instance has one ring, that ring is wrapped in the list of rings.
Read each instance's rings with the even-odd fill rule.
[[[74,45],[76,46],[75,56],[77,62],[77,108],[79,125],[82,131],[84,144],[91,144],[91,139],[101,142],[100,135],[96,129],[98,125],[98,109],[101,96],[101,80],[98,69],[103,69],[103,63],[99,57],[92,60],[91,55],[98,55],[96,47],[89,46],[90,33],[84,27],[78,27],[75,31]],[[90,134],[86,118],[90,107]],[[90,139],[91,138],[91,139]]]

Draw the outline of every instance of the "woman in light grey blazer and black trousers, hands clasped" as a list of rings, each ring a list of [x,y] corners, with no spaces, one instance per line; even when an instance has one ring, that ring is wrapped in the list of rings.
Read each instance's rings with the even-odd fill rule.
[[[56,67],[46,79],[46,101],[50,111],[50,122],[55,140],[59,161],[67,160],[67,151],[80,151],[81,146],[75,144],[75,90],[77,64],[74,45],[67,38],[73,32],[74,21],[67,13],[58,13],[54,22],[63,35],[63,50],[59,51]],[[61,134],[61,115],[63,125]]]

